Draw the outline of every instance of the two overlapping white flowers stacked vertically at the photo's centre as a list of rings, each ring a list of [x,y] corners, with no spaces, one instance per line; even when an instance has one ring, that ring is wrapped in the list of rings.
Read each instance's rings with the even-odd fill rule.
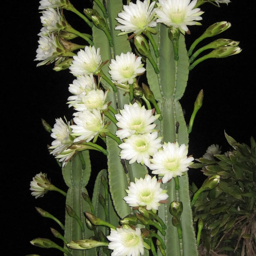
[[[159,115],[153,115],[152,110],[146,110],[138,103],[126,104],[120,114],[116,114],[117,137],[124,140],[119,147],[121,159],[129,160],[129,164],[138,163],[150,165],[150,156],[161,148],[161,137],[154,131],[153,122]]]

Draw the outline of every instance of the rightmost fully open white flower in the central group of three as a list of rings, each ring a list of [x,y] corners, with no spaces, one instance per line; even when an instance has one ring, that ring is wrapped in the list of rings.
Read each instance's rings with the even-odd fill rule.
[[[192,164],[194,158],[187,157],[188,146],[178,143],[164,143],[162,150],[159,150],[151,159],[149,168],[153,174],[164,176],[162,182],[166,183],[171,178],[181,176],[182,172],[188,170],[188,166]]]

